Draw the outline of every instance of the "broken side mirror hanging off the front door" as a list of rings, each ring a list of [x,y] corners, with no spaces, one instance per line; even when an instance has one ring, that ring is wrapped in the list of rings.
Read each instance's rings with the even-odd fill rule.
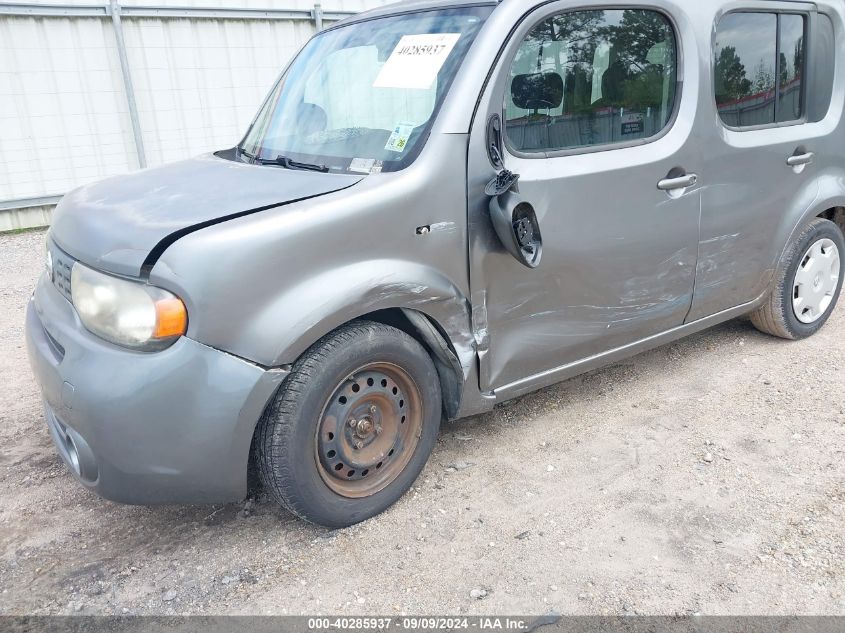
[[[505,249],[523,266],[537,268],[543,255],[537,214],[519,195],[519,174],[505,169],[502,149],[501,119],[493,115],[487,125],[487,150],[498,173],[484,191],[491,198],[490,220]]]

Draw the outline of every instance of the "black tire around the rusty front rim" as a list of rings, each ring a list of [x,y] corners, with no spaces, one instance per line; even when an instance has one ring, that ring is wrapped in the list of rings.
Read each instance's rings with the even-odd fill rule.
[[[354,373],[360,376],[362,368],[379,363],[401,369],[415,383],[419,397],[414,402],[421,403],[421,425],[412,433],[418,438],[413,449],[402,449],[407,453],[408,461],[404,466],[397,466],[395,479],[372,494],[352,498],[330,487],[335,486],[329,477],[334,469],[325,465],[324,453],[318,455],[318,451],[324,450],[322,425],[326,420],[335,420],[334,424],[347,431],[340,416],[331,417],[325,412],[328,407],[336,406],[335,395],[339,389],[350,380],[359,380]],[[372,384],[372,381],[368,382]],[[357,387],[357,382],[354,386]],[[411,406],[410,399],[408,404],[402,402],[403,406]],[[323,337],[302,355],[265,411],[256,436],[261,483],[279,504],[311,523],[340,528],[364,521],[393,505],[419,476],[437,440],[441,407],[437,371],[422,345],[405,332],[381,323],[349,323]],[[396,437],[410,426],[397,427]],[[379,432],[381,429],[379,424]],[[340,437],[341,431],[337,430],[337,434]],[[328,435],[334,437],[333,433]],[[353,436],[355,442],[357,437]],[[380,439],[373,435],[373,442],[390,439],[388,433]],[[397,446],[403,443],[401,438],[396,441]],[[405,443],[411,444],[407,438]],[[386,472],[387,468],[382,475]],[[374,469],[373,475],[376,474]],[[372,479],[362,485],[368,485],[370,481]],[[336,487],[343,485],[343,482],[337,482]]]

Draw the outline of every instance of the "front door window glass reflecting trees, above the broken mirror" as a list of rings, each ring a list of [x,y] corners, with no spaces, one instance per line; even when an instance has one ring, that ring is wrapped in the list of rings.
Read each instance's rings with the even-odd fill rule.
[[[648,139],[669,123],[676,85],[676,39],[663,14],[561,13],[538,24],[514,58],[507,138],[527,153]]]

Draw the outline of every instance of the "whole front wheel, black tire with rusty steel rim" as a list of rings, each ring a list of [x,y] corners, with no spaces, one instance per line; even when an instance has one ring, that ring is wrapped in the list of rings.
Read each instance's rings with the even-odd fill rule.
[[[352,525],[410,488],[440,416],[440,383],[425,349],[401,330],[357,321],[294,365],[259,423],[259,476],[303,519]]]

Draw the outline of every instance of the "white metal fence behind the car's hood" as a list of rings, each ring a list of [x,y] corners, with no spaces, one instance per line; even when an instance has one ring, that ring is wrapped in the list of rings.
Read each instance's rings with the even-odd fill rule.
[[[0,231],[46,224],[79,185],[233,145],[308,38],[387,2],[192,1],[0,3]]]

